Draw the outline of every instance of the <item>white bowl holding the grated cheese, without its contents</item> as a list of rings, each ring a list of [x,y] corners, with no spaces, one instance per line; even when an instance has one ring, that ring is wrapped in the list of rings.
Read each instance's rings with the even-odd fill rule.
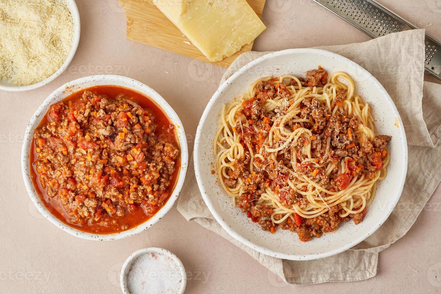
[[[19,86],[12,83],[0,81],[0,90],[18,92],[18,91],[28,91],[28,90],[37,89],[40,88],[41,86],[49,84],[66,70],[66,68],[69,66],[69,63],[71,63],[72,59],[74,58],[75,52],[77,51],[78,48],[78,43],[80,41],[80,15],[78,13],[77,4],[75,3],[75,0],[66,0],[66,5],[67,8],[69,8],[69,10],[71,11],[72,21],[74,22],[74,34],[72,36],[71,51],[67,55],[67,58],[66,60],[64,60],[64,63],[61,65],[61,67],[51,76],[45,78],[41,82],[37,82],[30,85]]]

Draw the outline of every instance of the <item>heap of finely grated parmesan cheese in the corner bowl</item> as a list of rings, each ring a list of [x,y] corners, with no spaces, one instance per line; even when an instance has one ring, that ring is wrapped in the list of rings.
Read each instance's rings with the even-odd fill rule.
[[[71,51],[63,0],[0,0],[0,81],[25,86],[55,73]]]

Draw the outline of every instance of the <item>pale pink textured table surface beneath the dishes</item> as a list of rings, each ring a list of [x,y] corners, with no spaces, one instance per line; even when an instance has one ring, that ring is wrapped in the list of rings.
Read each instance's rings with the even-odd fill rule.
[[[440,0],[380,2],[441,39]],[[187,270],[187,293],[441,292],[440,188],[406,236],[380,254],[376,278],[356,283],[301,287],[282,283],[227,240],[185,221],[176,208],[149,230],[112,242],[82,240],[52,225],[30,201],[19,166],[26,125],[49,93],[86,75],[135,78],[176,110],[191,150],[199,118],[225,70],[127,41],[125,15],[117,0],[77,4],[81,40],[67,71],[40,89],[0,91],[0,293],[120,293],[123,262],[149,246],[169,249],[181,259]],[[267,29],[254,42],[256,51],[369,40],[312,0],[267,0],[262,20]],[[429,75],[426,79],[436,82]]]

